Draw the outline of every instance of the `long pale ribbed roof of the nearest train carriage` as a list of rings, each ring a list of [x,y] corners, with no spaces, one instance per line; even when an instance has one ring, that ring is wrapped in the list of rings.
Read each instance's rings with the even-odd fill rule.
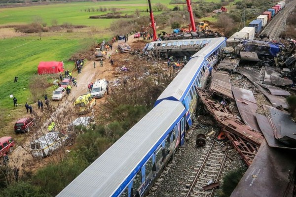
[[[136,175],[173,130],[185,107],[164,100],[89,165],[57,197],[111,197]],[[124,188],[120,188],[120,191]],[[117,191],[119,195],[120,191]]]

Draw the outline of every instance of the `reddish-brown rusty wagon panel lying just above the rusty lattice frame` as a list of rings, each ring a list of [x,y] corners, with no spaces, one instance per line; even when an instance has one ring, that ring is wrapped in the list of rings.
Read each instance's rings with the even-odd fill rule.
[[[223,129],[240,136],[256,146],[260,146],[262,140],[264,139],[260,132],[253,130],[251,127],[245,125],[237,119],[229,118],[220,123],[222,124]]]

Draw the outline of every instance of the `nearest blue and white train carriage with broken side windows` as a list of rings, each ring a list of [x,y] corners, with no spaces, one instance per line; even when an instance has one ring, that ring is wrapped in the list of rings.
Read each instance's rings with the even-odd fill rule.
[[[185,107],[164,100],[57,197],[143,197],[180,145]]]

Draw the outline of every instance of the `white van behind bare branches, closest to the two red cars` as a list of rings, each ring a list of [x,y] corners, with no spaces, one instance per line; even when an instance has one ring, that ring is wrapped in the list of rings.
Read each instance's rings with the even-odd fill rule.
[[[30,144],[33,157],[51,156],[52,152],[60,148],[68,138],[61,132],[49,132]]]

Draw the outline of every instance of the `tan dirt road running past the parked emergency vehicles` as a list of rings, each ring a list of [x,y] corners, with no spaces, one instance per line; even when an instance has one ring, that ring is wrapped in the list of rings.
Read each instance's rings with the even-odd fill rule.
[[[129,44],[132,45],[133,42],[135,42],[134,44],[138,47],[144,47],[145,44],[140,43],[140,41],[138,38],[133,38],[133,35],[130,35],[128,39]],[[37,168],[45,166],[46,164],[53,162],[55,160],[55,155],[41,160],[33,158],[31,153],[29,152],[30,141],[32,140],[32,138],[36,139],[40,137],[41,131],[47,132],[48,124],[52,120],[56,121],[58,118],[60,118],[69,106],[73,106],[73,100],[87,92],[87,85],[90,82],[95,82],[97,79],[103,78],[112,82],[116,78],[116,76],[113,74],[114,70],[118,70],[118,67],[120,67],[121,64],[119,64],[119,62],[122,61],[121,59],[124,59],[125,57],[129,56],[129,54],[115,54],[115,49],[117,47],[118,44],[117,42],[115,42],[113,43],[113,50],[107,51],[107,56],[109,53],[111,54],[111,59],[114,59],[116,66],[111,66],[110,60],[107,58],[103,61],[102,67],[100,66],[100,61],[96,61],[96,68],[94,68],[93,66],[94,61],[87,61],[85,62],[81,70],[81,73],[78,74],[77,71],[73,72],[73,76],[77,78],[77,87],[73,86],[71,94],[67,96],[66,99],[63,99],[63,101],[59,101],[59,106],[57,107],[57,110],[51,114],[51,117],[49,119],[44,121],[42,127],[37,129],[37,132],[26,134],[26,142],[22,144],[22,146],[17,146],[13,153],[9,156],[9,165],[11,167],[17,166],[20,169],[20,173],[22,173],[24,169],[35,171]],[[97,99],[97,106],[99,106],[100,103],[105,102],[106,97],[107,95],[105,95],[102,99]]]

